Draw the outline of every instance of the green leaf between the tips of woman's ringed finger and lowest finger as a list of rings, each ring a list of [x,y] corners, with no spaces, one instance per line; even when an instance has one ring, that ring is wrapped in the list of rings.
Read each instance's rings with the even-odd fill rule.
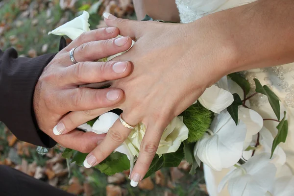
[[[130,161],[125,154],[113,152],[94,168],[106,175],[114,175],[115,173],[130,169]]]

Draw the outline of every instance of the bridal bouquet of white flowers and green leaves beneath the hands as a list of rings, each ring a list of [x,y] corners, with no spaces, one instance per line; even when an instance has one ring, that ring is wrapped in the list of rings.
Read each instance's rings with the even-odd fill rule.
[[[83,14],[56,28],[49,34],[66,35],[72,40],[89,31],[89,14]],[[148,19],[148,18],[146,18]],[[120,55],[120,54],[118,54]],[[110,60],[109,57],[104,60]],[[201,162],[215,171],[230,169],[219,190],[228,184],[231,195],[269,194],[276,170],[284,166],[286,155],[279,143],[285,142],[288,132],[286,112],[281,116],[279,98],[268,86],[254,79],[255,91],[239,73],[232,73],[207,88],[198,100],[166,127],[156,155],[145,177],[163,167],[177,167],[183,159],[191,164],[190,174]],[[263,94],[269,100],[277,121],[273,138],[264,126],[264,119],[250,109],[249,98]],[[119,114],[107,112],[80,125],[84,131],[107,133]],[[112,175],[132,170],[139,154],[146,126],[140,123],[123,144],[95,168]],[[83,165],[87,154],[66,148],[63,157]],[[294,178],[293,178],[294,180]]]

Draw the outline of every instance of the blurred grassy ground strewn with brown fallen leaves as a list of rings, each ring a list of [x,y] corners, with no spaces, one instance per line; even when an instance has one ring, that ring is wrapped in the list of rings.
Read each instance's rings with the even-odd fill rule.
[[[91,29],[105,26],[103,12],[136,20],[132,0],[0,0],[0,49],[15,48],[20,56],[36,57],[57,52],[59,36],[50,30],[80,15],[90,13]],[[68,40],[70,41],[70,40]],[[34,176],[52,186],[78,196],[206,196],[203,171],[189,175],[189,164],[164,168],[143,180],[138,187],[129,185],[129,172],[113,176],[95,169],[69,164],[56,146],[45,155],[37,147],[18,141],[0,122],[0,164]],[[5,176],[1,176],[5,177]]]

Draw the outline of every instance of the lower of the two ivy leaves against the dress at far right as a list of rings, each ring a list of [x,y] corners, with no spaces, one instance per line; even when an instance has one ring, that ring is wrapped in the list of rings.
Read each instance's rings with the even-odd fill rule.
[[[283,143],[286,142],[286,138],[287,138],[287,135],[288,135],[288,121],[285,120],[285,118],[286,118],[286,112],[284,112],[284,118],[282,119],[282,121],[277,125],[278,134],[277,134],[277,136],[274,138],[274,140],[272,142],[270,158],[272,157],[275,148],[281,142],[283,142]]]

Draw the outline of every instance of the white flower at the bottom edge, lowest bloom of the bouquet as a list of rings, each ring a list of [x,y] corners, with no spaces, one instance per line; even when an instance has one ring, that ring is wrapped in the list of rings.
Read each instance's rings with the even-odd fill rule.
[[[228,183],[231,196],[264,196],[273,184],[276,170],[269,153],[255,155],[221,180],[219,192]]]

